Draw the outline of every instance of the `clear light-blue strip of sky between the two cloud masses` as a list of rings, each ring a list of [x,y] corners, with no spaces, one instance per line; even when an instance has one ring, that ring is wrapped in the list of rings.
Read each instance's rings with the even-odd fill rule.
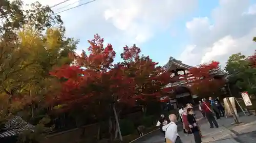
[[[179,58],[179,55],[189,43],[189,37],[185,28],[186,22],[190,21],[193,17],[210,17],[211,10],[218,5],[218,1],[200,0],[197,9],[185,16],[179,17],[172,23],[172,27],[141,45],[143,53],[150,55],[151,58],[158,61],[160,65],[166,64],[169,56]],[[174,35],[172,35],[172,32]],[[155,48],[155,50],[153,50],[153,48]]]

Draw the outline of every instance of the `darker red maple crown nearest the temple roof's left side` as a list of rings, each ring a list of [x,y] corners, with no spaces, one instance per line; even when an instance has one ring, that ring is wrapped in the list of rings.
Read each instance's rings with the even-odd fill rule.
[[[164,68],[157,66],[149,56],[140,55],[140,48],[136,45],[125,46],[121,58],[121,64],[127,68],[127,76],[133,77],[136,83],[134,98],[140,103],[146,104],[147,100],[159,100],[165,95],[164,86],[170,81],[170,72],[164,72]]]

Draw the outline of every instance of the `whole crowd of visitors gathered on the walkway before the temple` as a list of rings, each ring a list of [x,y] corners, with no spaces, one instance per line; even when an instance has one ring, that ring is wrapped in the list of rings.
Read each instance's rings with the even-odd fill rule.
[[[202,118],[206,118],[209,122],[210,128],[218,128],[219,124],[217,120],[221,117],[225,117],[225,110],[219,99],[212,99],[209,97],[209,100],[205,98],[199,101],[198,109],[202,113],[202,118],[197,119],[195,116],[195,108],[192,104],[187,103],[186,106],[181,106],[179,108],[179,118],[183,125],[183,132],[185,134],[193,134],[195,143],[202,142],[202,132],[200,130],[200,125],[198,121]],[[181,143],[182,140],[179,137],[178,129],[177,129],[177,116],[175,114],[171,114],[168,118],[165,118],[164,115],[161,115],[159,120],[161,123],[160,131],[164,134],[165,140],[167,143]]]

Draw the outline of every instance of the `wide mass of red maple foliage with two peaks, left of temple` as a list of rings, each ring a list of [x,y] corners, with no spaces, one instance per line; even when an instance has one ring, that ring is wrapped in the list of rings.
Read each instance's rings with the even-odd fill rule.
[[[169,72],[164,72],[149,56],[140,55],[136,45],[125,46],[123,62],[114,64],[115,51],[111,44],[104,47],[103,41],[95,35],[88,41],[88,50],[75,56],[74,65],[51,72],[62,82],[55,99],[58,104],[70,108],[100,106],[104,110],[119,103],[146,104],[148,99],[159,100],[165,94],[163,87],[169,83]]]

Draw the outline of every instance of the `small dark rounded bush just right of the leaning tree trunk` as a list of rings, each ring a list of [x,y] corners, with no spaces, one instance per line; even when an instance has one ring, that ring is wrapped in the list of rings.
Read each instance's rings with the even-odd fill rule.
[[[120,121],[120,130],[122,135],[129,135],[134,133],[135,127],[132,121],[123,119]]]

